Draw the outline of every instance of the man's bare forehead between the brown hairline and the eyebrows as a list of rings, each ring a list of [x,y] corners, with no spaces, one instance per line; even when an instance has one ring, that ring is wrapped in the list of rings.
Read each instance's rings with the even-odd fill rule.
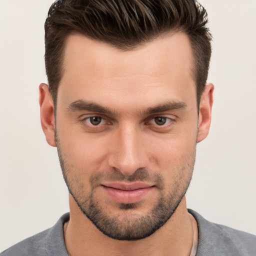
[[[66,101],[81,97],[113,104],[113,100],[126,98],[130,100],[127,104],[132,104],[143,94],[153,103],[156,96],[158,101],[172,98],[184,101],[189,95],[187,92],[195,100],[191,70],[190,41],[181,32],[159,37],[127,51],[82,35],[70,35],[64,51],[58,100],[61,95]],[[108,101],[106,94],[109,95]]]

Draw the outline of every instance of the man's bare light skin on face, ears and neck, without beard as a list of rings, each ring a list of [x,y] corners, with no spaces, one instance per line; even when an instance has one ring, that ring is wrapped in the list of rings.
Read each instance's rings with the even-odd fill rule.
[[[156,38],[132,51],[120,51],[81,35],[68,37],[56,120],[46,84],[39,86],[39,103],[42,128],[51,146],[56,146],[54,129],[57,131],[58,151],[72,193],[79,200],[87,197],[92,190],[90,178],[99,172],[107,175],[117,170],[130,177],[142,168],[160,175],[162,189],[149,179],[153,189],[135,208],[124,210],[100,185],[105,181],[103,174],[93,188],[93,198],[108,217],[120,223],[146,216],[160,197],[181,196],[174,214],[158,230],[127,241],[100,232],[69,195],[70,220],[64,238],[70,255],[189,255],[195,220],[187,212],[181,188],[190,181],[196,142],[208,134],[213,93],[213,85],[207,84],[198,111],[191,63],[190,42],[183,33]],[[111,112],[70,107],[77,100],[108,107]],[[165,102],[172,107],[146,111]],[[173,108],[173,103],[179,107]],[[91,116],[104,119],[93,126]],[[157,116],[166,117],[166,123],[158,125]]]

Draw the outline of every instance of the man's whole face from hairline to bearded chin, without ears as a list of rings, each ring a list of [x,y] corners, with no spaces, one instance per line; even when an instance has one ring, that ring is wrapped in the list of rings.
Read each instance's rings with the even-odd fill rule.
[[[107,236],[149,236],[186,192],[198,139],[191,62],[182,33],[130,51],[67,39],[56,146],[70,194]]]

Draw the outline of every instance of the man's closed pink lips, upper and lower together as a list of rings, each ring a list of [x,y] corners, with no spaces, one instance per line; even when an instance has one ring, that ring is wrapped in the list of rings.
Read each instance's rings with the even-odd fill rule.
[[[101,185],[104,191],[114,201],[119,203],[136,203],[141,201],[154,188],[151,184],[142,182],[122,183],[112,182]]]

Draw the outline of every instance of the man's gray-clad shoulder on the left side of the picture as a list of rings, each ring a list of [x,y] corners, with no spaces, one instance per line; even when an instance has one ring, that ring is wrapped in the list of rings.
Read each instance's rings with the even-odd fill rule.
[[[0,253],[0,256],[67,256],[62,227],[68,218],[69,214],[64,214],[51,228],[14,244]]]

